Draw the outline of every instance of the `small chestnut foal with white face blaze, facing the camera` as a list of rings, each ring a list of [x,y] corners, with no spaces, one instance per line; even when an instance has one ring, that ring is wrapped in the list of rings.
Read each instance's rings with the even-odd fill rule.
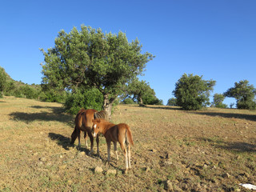
[[[110,162],[110,145],[114,142],[114,153],[118,160],[117,142],[119,142],[122,153],[125,155],[126,172],[131,168],[130,166],[130,144],[134,145],[133,136],[131,134],[130,127],[125,123],[115,125],[111,122],[107,122],[103,119],[95,119],[93,125],[92,134],[96,137],[99,133],[102,133],[106,138],[107,145],[107,160]],[[126,147],[125,147],[126,143]]]

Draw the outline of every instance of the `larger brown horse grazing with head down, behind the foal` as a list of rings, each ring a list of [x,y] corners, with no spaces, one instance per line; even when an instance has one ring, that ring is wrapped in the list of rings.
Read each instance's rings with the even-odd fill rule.
[[[93,154],[94,153],[94,137],[91,134],[91,129],[93,126],[93,120],[94,118],[106,118],[107,119],[107,114],[106,111],[102,110],[100,112],[98,112],[97,110],[79,110],[77,116],[74,119],[74,131],[71,134],[71,142],[70,144],[74,144],[74,141],[76,140],[76,138],[78,138],[78,147],[81,146],[81,142],[80,142],[80,133],[81,131],[84,131],[84,138],[85,138],[85,142],[86,142],[86,147],[88,147],[87,145],[87,139],[86,139],[86,134],[89,135],[90,138],[90,153],[89,154]],[[96,142],[97,142],[97,154],[99,155],[99,150],[98,150],[98,135],[96,138]]]

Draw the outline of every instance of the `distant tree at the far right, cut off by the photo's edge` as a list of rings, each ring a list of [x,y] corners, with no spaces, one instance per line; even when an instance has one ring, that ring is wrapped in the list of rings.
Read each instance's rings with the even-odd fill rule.
[[[255,95],[256,90],[253,85],[250,85],[247,80],[235,82],[234,87],[226,90],[224,96],[237,99],[238,109],[255,110]]]

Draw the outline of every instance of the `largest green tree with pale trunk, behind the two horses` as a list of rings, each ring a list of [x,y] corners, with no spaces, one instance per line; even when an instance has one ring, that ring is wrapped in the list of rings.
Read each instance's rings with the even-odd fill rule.
[[[81,26],[80,31],[74,27],[68,34],[61,30],[55,46],[42,53],[42,84],[59,90],[95,87],[108,114],[126,83],[142,74],[146,62],[154,58],[142,54],[138,39],[128,42],[122,32],[104,34],[90,26]]]

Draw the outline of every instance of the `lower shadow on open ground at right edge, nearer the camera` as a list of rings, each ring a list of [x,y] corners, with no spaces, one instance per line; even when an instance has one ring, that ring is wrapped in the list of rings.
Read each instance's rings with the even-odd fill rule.
[[[221,139],[213,140],[210,138],[197,138],[199,141],[210,142],[214,147],[223,150],[233,150],[235,152],[256,152],[256,145],[247,142],[224,142]],[[256,141],[254,142],[256,143]]]

